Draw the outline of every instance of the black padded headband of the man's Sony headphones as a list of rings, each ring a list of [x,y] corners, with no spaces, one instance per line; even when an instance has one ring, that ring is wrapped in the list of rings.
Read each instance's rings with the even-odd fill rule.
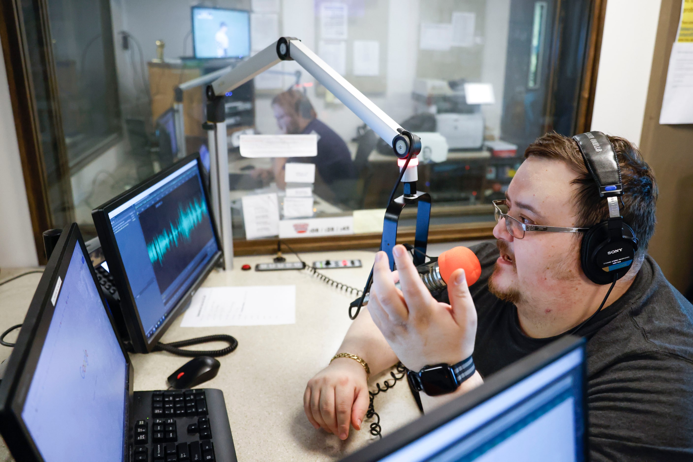
[[[587,170],[599,186],[599,197],[622,195],[621,170],[611,142],[602,132],[587,132],[572,137],[585,160]]]

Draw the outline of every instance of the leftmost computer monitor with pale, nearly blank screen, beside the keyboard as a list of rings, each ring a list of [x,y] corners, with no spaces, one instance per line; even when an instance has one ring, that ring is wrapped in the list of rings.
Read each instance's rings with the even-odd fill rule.
[[[77,224],[51,254],[0,383],[17,461],[127,460],[132,366]]]

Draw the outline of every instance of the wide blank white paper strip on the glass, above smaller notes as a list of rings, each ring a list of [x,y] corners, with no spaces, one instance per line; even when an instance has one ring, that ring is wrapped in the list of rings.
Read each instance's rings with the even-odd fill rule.
[[[258,157],[315,157],[317,135],[240,135],[240,155]]]

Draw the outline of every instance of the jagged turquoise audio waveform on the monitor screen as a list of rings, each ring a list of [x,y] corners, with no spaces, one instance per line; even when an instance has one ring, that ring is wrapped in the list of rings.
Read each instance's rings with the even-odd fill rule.
[[[171,247],[178,247],[179,242],[190,242],[190,235],[198,224],[207,217],[207,203],[195,197],[185,206],[178,205],[178,217],[175,223],[169,222],[168,228],[157,234],[147,243],[149,260],[152,264],[164,264],[164,256]]]

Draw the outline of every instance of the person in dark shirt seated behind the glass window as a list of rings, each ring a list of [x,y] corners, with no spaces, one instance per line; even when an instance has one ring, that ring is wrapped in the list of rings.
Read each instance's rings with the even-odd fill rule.
[[[330,127],[317,120],[310,100],[301,92],[284,91],[272,99],[272,112],[284,134],[317,134],[317,156],[274,159],[272,171],[258,170],[256,177],[274,177],[279,189],[286,188],[284,166],[287,162],[315,163],[315,194],[328,202],[345,203],[353,195],[356,168],[347,143]]]

